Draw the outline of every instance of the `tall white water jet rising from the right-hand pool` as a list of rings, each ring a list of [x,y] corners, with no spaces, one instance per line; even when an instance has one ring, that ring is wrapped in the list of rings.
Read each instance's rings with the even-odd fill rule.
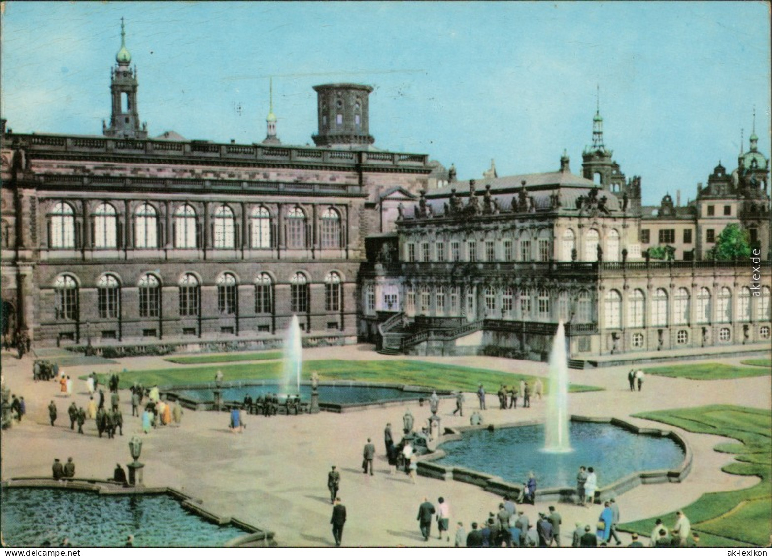
[[[571,451],[568,441],[568,360],[562,321],[557,324],[550,352],[550,396],[547,398],[544,450],[553,453]]]

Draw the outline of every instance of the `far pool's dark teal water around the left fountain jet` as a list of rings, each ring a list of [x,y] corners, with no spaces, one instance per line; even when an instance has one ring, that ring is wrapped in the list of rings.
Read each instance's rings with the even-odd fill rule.
[[[214,382],[164,385],[159,388],[167,400],[175,400],[189,410],[215,410],[212,390],[217,387]],[[248,392],[254,400],[267,392],[281,392],[284,387],[283,383],[276,380],[242,380],[226,381],[219,388],[223,391],[222,408],[230,410],[241,408]],[[310,381],[300,382],[300,390],[301,405],[307,410],[311,398]],[[319,407],[320,410],[340,414],[372,407],[401,406],[415,400],[428,403],[428,397],[435,391],[441,400],[455,400],[455,391],[435,390],[431,387],[370,381],[320,381]],[[283,403],[279,404],[279,413],[284,413]]]

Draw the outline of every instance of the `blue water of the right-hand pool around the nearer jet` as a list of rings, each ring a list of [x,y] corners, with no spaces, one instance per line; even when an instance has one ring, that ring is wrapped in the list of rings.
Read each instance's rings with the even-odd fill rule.
[[[563,488],[575,487],[580,466],[593,467],[603,487],[633,472],[679,468],[685,456],[672,439],[637,435],[612,424],[572,421],[569,430],[573,450],[565,453],[543,451],[543,424],[469,431],[460,441],[443,443],[447,456],[434,462],[516,483],[533,471],[539,488]]]

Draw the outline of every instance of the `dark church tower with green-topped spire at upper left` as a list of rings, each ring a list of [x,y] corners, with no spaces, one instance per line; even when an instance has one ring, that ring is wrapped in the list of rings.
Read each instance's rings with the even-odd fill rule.
[[[110,72],[110,91],[113,112],[110,126],[102,122],[102,133],[107,137],[147,139],[147,124],[140,125],[137,112],[137,66],[130,69],[131,55],[126,48],[124,19],[120,19],[120,50],[115,55],[117,66]]]

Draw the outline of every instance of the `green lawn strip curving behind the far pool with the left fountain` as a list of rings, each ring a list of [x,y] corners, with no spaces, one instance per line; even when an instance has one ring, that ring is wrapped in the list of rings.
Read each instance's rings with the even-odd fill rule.
[[[230,364],[223,366],[173,367],[163,370],[133,371],[120,374],[120,387],[130,387],[135,381],[143,385],[174,385],[182,383],[211,382],[215,373],[222,371],[225,381],[245,379],[276,379],[283,373],[280,361]],[[316,371],[322,380],[357,380],[381,383],[400,383],[405,385],[423,385],[436,389],[461,389],[476,391],[482,383],[488,393],[496,393],[501,383],[511,385],[520,379],[532,382],[534,376],[518,373],[480,370],[473,367],[449,366],[440,363],[426,363],[411,360],[393,361],[350,361],[350,360],[310,360],[303,362],[302,377],[309,380]],[[85,377],[84,377],[85,378]],[[100,383],[107,380],[107,375],[100,376]],[[548,389],[547,381],[545,390]],[[601,390],[587,385],[571,385],[571,392],[579,393]]]

